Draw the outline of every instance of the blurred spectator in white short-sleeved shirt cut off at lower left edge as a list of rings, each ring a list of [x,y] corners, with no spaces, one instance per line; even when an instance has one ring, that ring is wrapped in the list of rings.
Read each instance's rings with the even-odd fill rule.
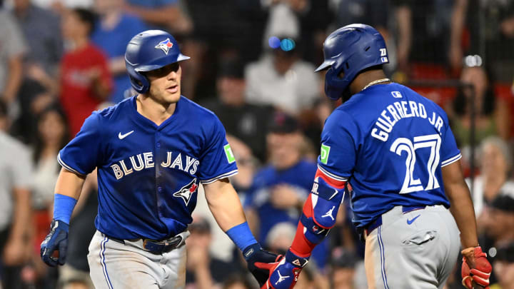
[[[1,18],[1,17],[0,17]],[[7,108],[0,101],[0,278],[18,289],[22,266],[31,258],[31,161],[28,149],[6,133]]]

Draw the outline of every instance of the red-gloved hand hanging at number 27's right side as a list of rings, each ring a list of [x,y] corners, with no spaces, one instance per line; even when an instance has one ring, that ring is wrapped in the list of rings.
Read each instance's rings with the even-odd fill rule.
[[[482,252],[482,248],[466,248],[462,250],[463,265],[460,270],[462,283],[465,288],[473,289],[473,283],[489,288],[489,276],[493,268],[487,260],[487,255]]]

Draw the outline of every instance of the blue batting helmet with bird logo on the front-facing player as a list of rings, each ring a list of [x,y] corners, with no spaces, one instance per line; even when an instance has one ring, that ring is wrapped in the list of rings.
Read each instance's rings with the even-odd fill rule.
[[[161,30],[147,30],[133,36],[125,51],[125,66],[132,87],[138,93],[145,93],[150,88],[148,78],[141,72],[187,59],[189,57],[181,54],[173,36]]]

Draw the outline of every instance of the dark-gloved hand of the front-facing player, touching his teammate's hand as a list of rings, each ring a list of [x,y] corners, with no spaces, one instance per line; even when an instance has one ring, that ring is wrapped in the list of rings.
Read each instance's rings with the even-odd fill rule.
[[[243,250],[243,256],[246,263],[248,263],[248,270],[250,270],[260,286],[264,285],[266,280],[268,280],[269,270],[258,265],[276,263],[278,258],[280,258],[277,254],[263,250],[258,243],[246,247]]]

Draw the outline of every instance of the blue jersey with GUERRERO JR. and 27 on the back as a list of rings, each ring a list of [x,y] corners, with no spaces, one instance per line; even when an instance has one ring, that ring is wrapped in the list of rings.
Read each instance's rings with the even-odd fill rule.
[[[390,83],[356,93],[327,118],[318,168],[350,183],[359,228],[394,206],[449,207],[441,167],[459,158],[443,109]]]

